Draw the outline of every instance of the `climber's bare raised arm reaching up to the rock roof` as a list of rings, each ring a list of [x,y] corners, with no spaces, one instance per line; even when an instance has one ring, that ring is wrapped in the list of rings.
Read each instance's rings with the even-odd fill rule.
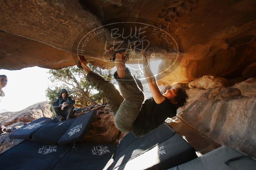
[[[143,62],[143,68],[144,68],[144,76],[146,78],[149,90],[155,102],[158,104],[162,103],[165,100],[165,96],[162,95],[161,91],[159,90],[155,76],[152,73],[151,68],[149,66],[149,61],[147,57],[150,57],[150,56],[146,56],[144,51],[141,52],[141,55],[142,55],[142,62]]]

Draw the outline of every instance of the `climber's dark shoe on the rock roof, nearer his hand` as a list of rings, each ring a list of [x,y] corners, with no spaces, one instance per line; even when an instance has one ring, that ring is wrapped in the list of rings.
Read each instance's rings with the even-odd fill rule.
[[[123,42],[121,45],[111,45],[108,46],[107,52],[112,55],[112,58],[110,60],[114,61],[116,59],[116,54],[120,53],[123,56],[124,61],[129,60],[129,50],[131,50],[136,44],[136,41],[134,42]],[[115,47],[115,48],[114,48]]]

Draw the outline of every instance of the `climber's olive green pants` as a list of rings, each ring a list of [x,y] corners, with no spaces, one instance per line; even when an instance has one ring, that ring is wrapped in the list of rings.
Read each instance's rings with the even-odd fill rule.
[[[105,94],[114,115],[115,125],[122,132],[132,130],[133,123],[144,101],[141,81],[135,79],[128,68],[126,68],[126,72],[126,77],[122,79],[118,78],[117,72],[114,73],[114,78],[118,82],[122,95],[110,81],[105,80],[99,74],[90,71],[86,77],[87,81]]]

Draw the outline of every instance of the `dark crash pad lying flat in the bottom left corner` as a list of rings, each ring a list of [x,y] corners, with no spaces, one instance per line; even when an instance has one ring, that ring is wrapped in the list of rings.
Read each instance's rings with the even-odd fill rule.
[[[0,154],[1,169],[50,169],[67,152],[69,146],[45,145],[25,140]]]

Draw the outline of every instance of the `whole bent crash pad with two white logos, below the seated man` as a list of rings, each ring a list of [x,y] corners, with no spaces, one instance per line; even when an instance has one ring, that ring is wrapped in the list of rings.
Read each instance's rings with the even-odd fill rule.
[[[10,138],[33,139],[49,145],[66,145],[81,140],[88,132],[97,111],[92,110],[80,117],[56,122],[41,117],[10,134]]]

